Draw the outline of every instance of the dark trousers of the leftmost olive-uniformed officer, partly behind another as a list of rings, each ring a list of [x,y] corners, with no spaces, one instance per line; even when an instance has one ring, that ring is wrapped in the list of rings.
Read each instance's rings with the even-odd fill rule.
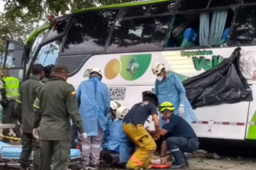
[[[30,155],[33,150],[33,164],[34,169],[39,169],[39,140],[33,138],[32,133],[22,133],[22,151],[19,158],[21,163],[21,168],[29,167],[30,165]]]

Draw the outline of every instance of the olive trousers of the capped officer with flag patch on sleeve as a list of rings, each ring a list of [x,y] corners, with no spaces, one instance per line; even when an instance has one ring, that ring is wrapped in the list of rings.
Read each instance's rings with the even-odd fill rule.
[[[69,140],[40,140],[40,170],[66,170],[69,156]]]

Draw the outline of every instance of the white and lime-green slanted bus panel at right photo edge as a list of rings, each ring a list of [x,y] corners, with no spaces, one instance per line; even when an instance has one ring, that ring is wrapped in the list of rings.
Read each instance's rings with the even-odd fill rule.
[[[255,82],[254,82],[255,83]],[[246,139],[256,139],[256,84],[253,84],[253,101],[250,102]]]

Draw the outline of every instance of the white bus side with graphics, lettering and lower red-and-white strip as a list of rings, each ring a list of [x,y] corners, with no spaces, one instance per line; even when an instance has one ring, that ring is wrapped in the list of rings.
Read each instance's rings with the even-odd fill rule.
[[[110,93],[113,92],[112,98],[130,109],[141,100],[141,92],[154,88],[156,76],[152,74],[152,65],[155,62],[165,63],[166,70],[175,72],[183,80],[216,66],[218,59],[229,57],[234,49],[95,55],[84,63],[77,74],[68,78],[68,82],[77,87],[88,78],[85,73],[89,69],[98,67],[102,70],[102,82],[108,85]],[[125,97],[122,96],[124,89]],[[197,121],[192,123],[192,127],[199,137],[244,140],[248,102],[200,107],[195,114]]]

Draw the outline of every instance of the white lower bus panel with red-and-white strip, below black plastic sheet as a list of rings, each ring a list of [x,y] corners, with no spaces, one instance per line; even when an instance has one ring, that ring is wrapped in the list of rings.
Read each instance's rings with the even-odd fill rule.
[[[222,104],[195,109],[192,123],[197,136],[244,140],[248,102]]]

